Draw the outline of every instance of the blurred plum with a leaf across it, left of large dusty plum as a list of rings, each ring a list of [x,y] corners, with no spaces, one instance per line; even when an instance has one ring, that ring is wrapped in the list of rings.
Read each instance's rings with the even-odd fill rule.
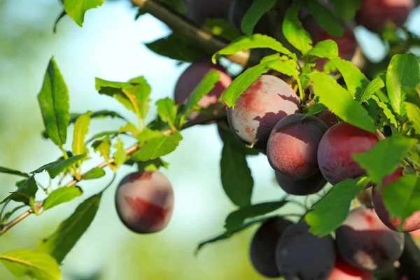
[[[232,83],[232,78],[226,73],[225,69],[222,66],[214,65],[210,61],[200,60],[193,62],[186,71],[183,71],[181,76],[176,82],[175,91],[174,91],[174,100],[176,104],[185,104],[190,97],[191,92],[195,87],[200,83],[202,78],[206,76],[209,71],[216,70],[220,73],[221,77],[218,82],[214,85],[213,89],[208,93],[204,94],[202,99],[198,102],[198,106],[203,109],[208,109],[211,107],[213,113],[216,115],[218,113],[218,99],[221,97],[223,91]],[[226,109],[225,104],[223,104],[224,110]],[[190,120],[195,120],[199,116],[204,116],[198,112],[193,112],[190,115]]]

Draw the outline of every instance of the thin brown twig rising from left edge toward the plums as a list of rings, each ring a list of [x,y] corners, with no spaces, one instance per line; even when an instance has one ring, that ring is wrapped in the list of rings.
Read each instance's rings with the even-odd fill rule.
[[[185,125],[183,125],[183,127],[181,128],[181,130],[185,130],[189,127],[193,127],[194,125],[202,125],[205,123],[209,123],[210,121],[217,121],[217,120],[223,120],[226,119],[226,113],[221,113],[218,114],[216,116],[205,116],[202,118],[197,118],[196,120],[191,120],[190,122],[186,123]],[[172,130],[165,130],[162,133],[164,134],[172,134],[173,131]],[[125,153],[127,155],[132,155],[134,152],[139,150],[139,144],[134,144],[133,146],[131,146],[130,148],[127,148],[125,150]],[[102,163],[100,163],[99,165],[97,165],[97,168],[104,168],[109,166],[111,163],[113,163],[115,161],[114,158],[110,158],[109,160],[106,160]],[[72,187],[75,186],[76,183],[78,183],[79,181],[83,180],[83,176],[85,174],[82,174],[81,179],[73,179],[73,181],[69,182],[66,184],[66,187]],[[40,210],[41,207],[43,207],[43,203],[45,202],[45,200],[38,202],[37,204],[35,204],[35,208],[36,210]],[[16,217],[15,219],[13,219],[13,221],[10,221],[10,223],[6,223],[4,225],[0,225],[0,236],[3,235],[5,232],[7,232],[8,230],[10,230],[10,228],[13,228],[15,225],[17,225],[18,223],[20,223],[22,220],[24,220],[25,218],[27,218],[29,215],[33,214],[34,210],[33,209],[29,209],[27,211],[25,211],[24,213],[20,214],[20,216]]]

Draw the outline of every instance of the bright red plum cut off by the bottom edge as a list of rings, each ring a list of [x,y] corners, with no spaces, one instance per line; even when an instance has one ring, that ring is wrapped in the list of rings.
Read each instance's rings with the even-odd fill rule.
[[[372,272],[353,267],[337,256],[334,268],[327,280],[374,280]]]

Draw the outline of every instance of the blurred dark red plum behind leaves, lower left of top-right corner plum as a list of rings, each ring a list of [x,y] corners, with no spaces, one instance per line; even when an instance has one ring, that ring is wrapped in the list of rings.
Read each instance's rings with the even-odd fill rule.
[[[349,27],[344,27],[344,34],[342,36],[332,36],[322,29],[311,15],[302,20],[302,26],[308,31],[309,35],[311,35],[314,45],[320,41],[330,39],[337,43],[338,56],[342,59],[351,60],[356,53],[356,37],[353,34],[353,30]],[[324,58],[316,59],[316,69],[322,71],[323,65],[327,61],[328,59]]]

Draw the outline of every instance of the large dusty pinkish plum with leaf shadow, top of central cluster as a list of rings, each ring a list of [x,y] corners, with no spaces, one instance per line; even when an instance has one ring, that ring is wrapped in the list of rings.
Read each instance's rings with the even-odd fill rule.
[[[299,112],[299,98],[280,78],[262,75],[228,109],[228,122],[236,137],[245,144],[264,146],[274,125]]]

